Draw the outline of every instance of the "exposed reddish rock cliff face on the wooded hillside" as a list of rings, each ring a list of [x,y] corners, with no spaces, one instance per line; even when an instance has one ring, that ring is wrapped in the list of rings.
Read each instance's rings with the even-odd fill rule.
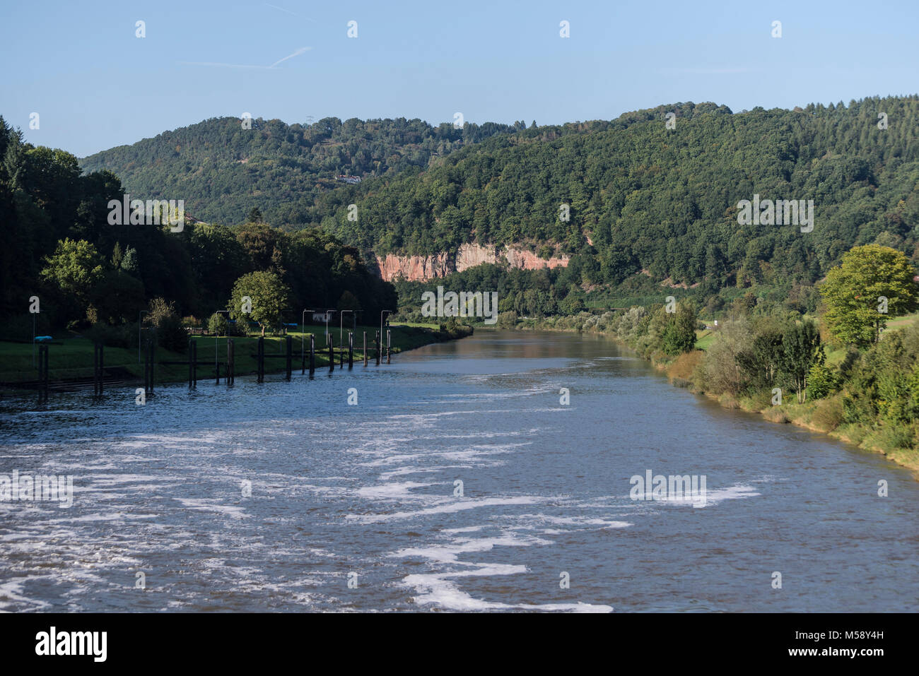
[[[566,267],[569,257],[565,254],[552,256],[548,261],[537,254],[515,247],[496,248],[481,244],[462,244],[455,254],[441,252],[427,256],[400,256],[386,254],[377,256],[380,276],[388,282],[402,276],[412,282],[426,282],[435,277],[462,272],[483,263],[506,262],[511,267],[537,270],[540,267]]]

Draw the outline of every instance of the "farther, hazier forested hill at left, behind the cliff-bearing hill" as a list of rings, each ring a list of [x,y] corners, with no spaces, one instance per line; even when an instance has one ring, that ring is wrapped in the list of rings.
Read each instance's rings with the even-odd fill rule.
[[[315,220],[316,196],[346,185],[338,175],[417,171],[433,157],[525,127],[486,123],[458,130],[405,118],[324,118],[310,125],[212,118],[97,152],[80,164],[87,173],[110,170],[137,197],[185,199],[199,220],[239,223],[257,207],[273,224],[299,225]]]

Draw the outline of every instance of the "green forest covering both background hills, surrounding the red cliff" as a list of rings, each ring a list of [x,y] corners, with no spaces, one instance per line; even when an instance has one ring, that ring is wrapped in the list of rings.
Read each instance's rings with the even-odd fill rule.
[[[684,103],[611,121],[462,130],[335,118],[254,120],[242,130],[221,118],[98,153],[83,167],[108,167],[143,197],[185,198],[197,218],[239,222],[257,205],[283,230],[321,227],[368,259],[455,252],[464,242],[571,254],[567,269],[549,273],[473,274],[505,290],[503,310],[524,315],[585,301],[628,305],[659,296],[661,283],[702,301],[730,302],[755,287],[812,310],[814,282],[852,246],[915,255],[917,126],[916,96],[741,113]],[[346,185],[338,174],[363,181]],[[737,203],[754,194],[812,199],[813,231],[738,225]],[[350,204],[357,220],[347,218]],[[401,288],[404,303],[422,285]]]

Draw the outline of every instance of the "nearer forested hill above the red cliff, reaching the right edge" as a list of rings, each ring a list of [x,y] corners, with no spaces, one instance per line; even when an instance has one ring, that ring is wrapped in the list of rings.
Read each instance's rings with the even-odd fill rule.
[[[710,104],[658,107],[582,133],[496,136],[420,175],[329,193],[320,211],[334,215],[323,224],[344,241],[378,254],[430,254],[462,242],[546,251],[550,242],[581,254],[572,265],[587,284],[616,284],[642,269],[712,291],[729,278],[743,286],[812,282],[856,244],[913,254],[917,129],[916,96],[736,114]],[[738,202],[754,194],[814,200],[813,231],[738,225]],[[351,202],[357,222],[346,219]],[[567,222],[562,203],[570,205]]]

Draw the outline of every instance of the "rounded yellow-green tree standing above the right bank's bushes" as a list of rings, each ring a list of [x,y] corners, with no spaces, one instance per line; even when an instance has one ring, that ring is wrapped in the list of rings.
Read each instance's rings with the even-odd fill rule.
[[[830,330],[847,344],[877,343],[891,316],[919,307],[915,274],[896,249],[879,244],[852,248],[820,287]]]

